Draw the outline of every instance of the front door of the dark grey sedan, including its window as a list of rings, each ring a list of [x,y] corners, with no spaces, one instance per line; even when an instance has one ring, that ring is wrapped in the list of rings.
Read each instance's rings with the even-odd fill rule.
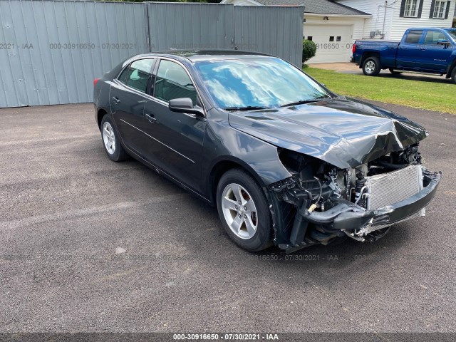
[[[147,159],[186,185],[200,190],[206,118],[172,112],[168,108],[168,101],[174,98],[191,98],[194,105],[200,105],[194,83],[183,66],[162,59],[151,95],[153,99],[144,107],[147,120],[144,130],[150,141],[157,143],[147,147]]]

